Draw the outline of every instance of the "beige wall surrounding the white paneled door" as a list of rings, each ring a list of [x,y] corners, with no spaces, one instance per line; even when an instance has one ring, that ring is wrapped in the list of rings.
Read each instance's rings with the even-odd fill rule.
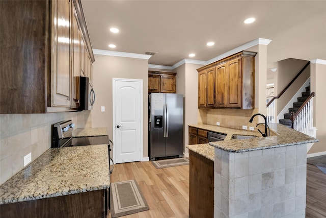
[[[95,55],[95,60],[93,127],[106,127],[109,137],[113,138],[112,78],[143,80],[143,157],[148,157],[148,60],[105,55]],[[101,112],[101,106],[105,107],[105,112]]]

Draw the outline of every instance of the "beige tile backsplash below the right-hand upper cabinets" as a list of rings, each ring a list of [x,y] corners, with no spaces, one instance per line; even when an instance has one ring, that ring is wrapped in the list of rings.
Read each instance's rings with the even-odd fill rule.
[[[229,127],[235,129],[242,129],[242,126],[253,126],[250,124],[249,119],[255,113],[258,113],[258,108],[253,110],[240,110],[240,109],[198,109],[198,124],[216,125],[220,123],[222,127]]]

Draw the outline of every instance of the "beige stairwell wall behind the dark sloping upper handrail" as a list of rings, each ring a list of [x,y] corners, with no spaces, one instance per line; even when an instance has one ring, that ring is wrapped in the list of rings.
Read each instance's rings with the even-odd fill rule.
[[[291,82],[298,72],[307,64],[305,60],[289,58],[277,63],[277,82],[275,96]],[[293,95],[301,88],[301,86],[310,77],[310,67],[307,67],[304,72],[298,77],[287,91],[284,92],[281,98],[277,100],[277,114],[279,114],[287,103],[292,99]]]

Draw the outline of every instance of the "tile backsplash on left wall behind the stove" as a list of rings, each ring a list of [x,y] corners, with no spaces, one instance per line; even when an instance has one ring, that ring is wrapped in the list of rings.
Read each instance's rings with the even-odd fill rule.
[[[75,128],[92,127],[91,111],[48,114],[0,114],[0,184],[24,168],[23,157],[32,161],[51,147],[51,125],[71,119]]]

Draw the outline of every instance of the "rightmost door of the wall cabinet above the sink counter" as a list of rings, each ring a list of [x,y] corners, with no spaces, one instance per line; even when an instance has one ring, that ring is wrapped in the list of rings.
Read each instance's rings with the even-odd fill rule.
[[[241,58],[227,63],[228,71],[228,101],[227,106],[241,108]]]

